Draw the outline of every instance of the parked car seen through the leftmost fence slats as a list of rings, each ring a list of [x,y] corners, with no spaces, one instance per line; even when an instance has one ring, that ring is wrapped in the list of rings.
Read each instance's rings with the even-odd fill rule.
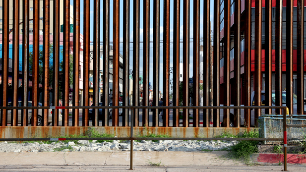
[[[12,106],[12,103],[11,102],[8,102],[7,103],[7,106],[8,107],[11,107]],[[28,102],[28,107],[31,107],[32,106],[32,102],[29,101]],[[42,103],[38,103],[38,106],[41,107],[42,106]],[[21,101],[18,102],[18,107],[21,107]],[[0,110],[1,111],[1,110]],[[39,109],[38,110],[38,116],[37,116],[37,122],[38,122],[38,125],[42,125],[42,109]],[[8,110],[7,111],[7,123],[10,123],[11,122],[11,110]],[[31,120],[32,120],[32,110],[28,110],[28,123],[30,124],[31,123]],[[61,111],[60,111],[60,114],[59,114],[59,121],[62,120],[62,115],[61,115]],[[52,109],[49,109],[48,110],[48,125],[50,125],[52,122]],[[18,123],[21,123],[21,110],[18,110]]]

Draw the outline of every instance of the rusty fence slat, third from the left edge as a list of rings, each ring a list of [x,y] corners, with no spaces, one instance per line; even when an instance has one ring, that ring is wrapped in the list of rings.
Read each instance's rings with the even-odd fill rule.
[[[29,86],[29,0],[23,1],[23,25],[22,25],[22,106],[28,106]],[[4,56],[3,56],[4,57]],[[21,110],[21,126],[27,126],[28,110]]]

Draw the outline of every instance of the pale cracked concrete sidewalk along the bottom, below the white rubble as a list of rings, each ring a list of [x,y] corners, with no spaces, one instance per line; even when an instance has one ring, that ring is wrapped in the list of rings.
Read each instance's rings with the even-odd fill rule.
[[[281,166],[248,167],[241,161],[226,158],[227,151],[213,152],[134,152],[135,172],[245,172],[281,171]],[[126,172],[130,152],[22,152],[0,153],[0,171],[5,172]],[[254,154],[256,161],[260,154]],[[151,162],[151,163],[150,163]],[[161,167],[151,167],[161,163]],[[305,172],[306,165],[288,164],[291,172]]]

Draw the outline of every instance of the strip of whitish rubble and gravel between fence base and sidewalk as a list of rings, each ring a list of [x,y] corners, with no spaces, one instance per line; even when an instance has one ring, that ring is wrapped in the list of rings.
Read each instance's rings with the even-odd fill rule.
[[[229,150],[231,146],[237,144],[238,141],[171,141],[159,140],[157,142],[134,141],[133,151],[216,151]],[[43,142],[28,143],[7,143],[0,142],[0,152],[71,152],[71,151],[87,151],[87,152],[111,152],[111,151],[129,151],[130,141],[114,140],[113,142],[98,143],[96,140],[79,140],[77,142],[52,142],[45,144]]]

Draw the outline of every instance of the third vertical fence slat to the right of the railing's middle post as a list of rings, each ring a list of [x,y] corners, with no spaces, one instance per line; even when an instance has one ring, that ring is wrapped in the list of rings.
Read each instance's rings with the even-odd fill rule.
[[[153,106],[159,106],[159,13],[160,0],[155,0],[153,6]],[[153,110],[152,124],[153,126],[159,125],[158,109]]]

